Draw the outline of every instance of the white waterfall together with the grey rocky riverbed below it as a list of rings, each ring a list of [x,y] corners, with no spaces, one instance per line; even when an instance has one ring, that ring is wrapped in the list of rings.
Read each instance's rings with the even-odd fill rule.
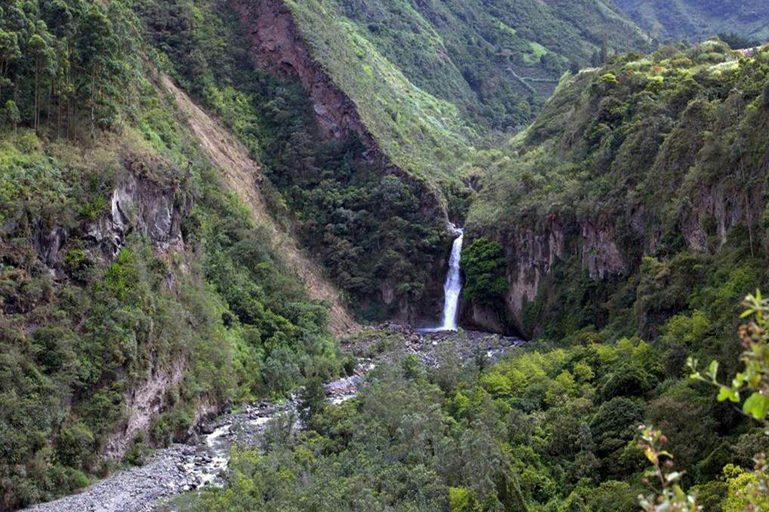
[[[448,272],[444,282],[444,307],[441,325],[431,329],[414,330],[403,325],[382,325],[371,328],[372,332],[385,329],[404,336],[402,349],[419,356],[426,366],[437,366],[435,348],[453,339],[461,360],[468,361],[484,354],[491,360],[498,360],[509,349],[521,346],[524,340],[483,332],[464,332],[459,336],[457,313],[462,289],[460,259],[464,241],[463,230],[449,224],[448,230],[454,235]],[[365,329],[364,329],[365,331]],[[340,378],[325,384],[328,400],[339,404],[358,394],[364,375],[374,365],[371,360],[363,362],[355,375]],[[224,484],[222,474],[226,471],[231,448],[238,446],[259,446],[265,429],[272,419],[279,415],[291,415],[295,427],[298,423],[298,398],[292,397],[284,404],[260,401],[246,405],[231,414],[221,415],[213,421],[202,424],[198,432],[186,444],[173,444],[156,450],[150,461],[141,467],[128,467],[98,481],[80,494],[73,494],[45,504],[38,504],[26,510],[34,512],[75,512],[99,510],[104,512],[149,512],[165,510],[165,503],[172,497],[205,486]]]

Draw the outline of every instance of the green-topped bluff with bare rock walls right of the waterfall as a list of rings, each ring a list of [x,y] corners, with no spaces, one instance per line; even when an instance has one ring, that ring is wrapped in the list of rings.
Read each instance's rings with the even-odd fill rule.
[[[470,238],[498,240],[508,261],[497,312],[528,335],[653,331],[687,308],[680,290],[648,302],[644,279],[677,279],[650,276],[658,266],[691,256],[690,272],[715,276],[763,257],[767,63],[766,48],[741,58],[708,41],[564,81],[471,209]]]

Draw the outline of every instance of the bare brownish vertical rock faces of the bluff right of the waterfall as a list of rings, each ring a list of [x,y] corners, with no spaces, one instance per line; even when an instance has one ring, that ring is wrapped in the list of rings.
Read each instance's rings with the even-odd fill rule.
[[[691,206],[677,222],[686,249],[717,250],[727,243],[731,230],[756,223],[761,200],[756,190],[746,191],[734,183],[701,184],[691,192]],[[638,204],[611,220],[571,220],[548,216],[536,227],[519,227],[513,233],[473,233],[491,236],[504,248],[508,259],[508,291],[504,308],[512,326],[524,335],[537,335],[537,326],[524,325],[524,305],[536,299],[544,277],[560,259],[578,256],[581,268],[591,279],[628,276],[642,256],[654,256],[661,247],[662,221],[651,215],[652,205]],[[636,253],[621,249],[621,236],[632,236]],[[757,233],[751,233],[758,240]],[[756,242],[758,243],[758,242]],[[758,246],[755,247],[758,250]],[[466,305],[463,317],[479,329],[504,332],[504,322],[494,309]],[[533,327],[533,330],[532,330]],[[507,329],[509,330],[509,329]]]

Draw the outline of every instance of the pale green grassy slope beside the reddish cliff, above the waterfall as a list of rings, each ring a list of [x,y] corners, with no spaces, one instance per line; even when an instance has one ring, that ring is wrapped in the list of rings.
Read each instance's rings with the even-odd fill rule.
[[[325,0],[286,3],[315,58],[355,102],[384,154],[421,179],[456,179],[478,137],[457,106],[416,87]]]

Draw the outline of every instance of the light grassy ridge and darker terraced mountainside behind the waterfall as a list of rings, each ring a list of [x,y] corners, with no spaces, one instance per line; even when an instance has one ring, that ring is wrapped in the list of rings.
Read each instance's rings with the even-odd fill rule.
[[[286,3],[385,152],[431,178],[455,175],[483,127],[524,126],[570,65],[648,41],[601,2]]]

